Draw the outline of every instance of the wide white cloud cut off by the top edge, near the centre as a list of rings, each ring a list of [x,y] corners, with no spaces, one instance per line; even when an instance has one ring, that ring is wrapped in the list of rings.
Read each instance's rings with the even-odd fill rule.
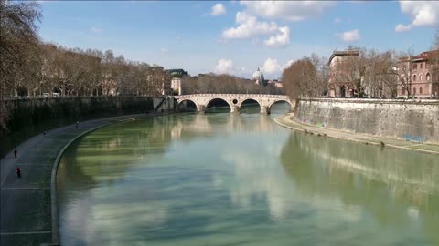
[[[264,18],[279,18],[288,21],[302,21],[321,15],[326,8],[336,5],[329,1],[241,1],[241,5],[253,15]]]

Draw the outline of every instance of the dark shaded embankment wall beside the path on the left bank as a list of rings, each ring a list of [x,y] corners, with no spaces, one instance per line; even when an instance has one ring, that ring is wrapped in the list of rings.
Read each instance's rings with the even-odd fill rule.
[[[76,121],[153,112],[152,97],[35,97],[3,101],[7,130],[0,130],[0,157],[27,138]]]

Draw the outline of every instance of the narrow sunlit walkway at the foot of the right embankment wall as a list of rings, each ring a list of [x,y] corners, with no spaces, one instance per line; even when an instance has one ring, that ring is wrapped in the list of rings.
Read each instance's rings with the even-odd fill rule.
[[[385,145],[384,148],[391,147],[439,155],[439,145],[423,142],[405,141],[393,138],[381,138],[368,134],[359,134],[332,128],[311,126],[294,120],[294,114],[286,114],[284,116],[274,118],[274,121],[284,128],[291,128],[297,131],[303,131],[308,134],[321,136],[322,138],[326,136],[329,138],[338,138],[377,146],[381,146],[381,142],[383,142]]]

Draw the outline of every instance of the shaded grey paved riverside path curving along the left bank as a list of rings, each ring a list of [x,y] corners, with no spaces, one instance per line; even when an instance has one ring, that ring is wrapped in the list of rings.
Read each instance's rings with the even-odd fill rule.
[[[93,128],[99,128],[128,118],[131,115],[80,122],[48,131],[22,143],[17,159],[11,151],[0,165],[1,224],[0,245],[51,245],[51,171],[59,151],[71,139]],[[21,168],[21,179],[16,178]]]

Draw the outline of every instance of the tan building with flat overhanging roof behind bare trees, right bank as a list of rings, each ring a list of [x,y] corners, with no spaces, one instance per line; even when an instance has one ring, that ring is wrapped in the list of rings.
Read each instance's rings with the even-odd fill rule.
[[[327,82],[327,93],[329,97],[355,97],[359,92],[354,79],[359,79],[359,74],[352,76],[353,61],[359,57],[358,49],[334,51],[329,57],[329,77]]]

